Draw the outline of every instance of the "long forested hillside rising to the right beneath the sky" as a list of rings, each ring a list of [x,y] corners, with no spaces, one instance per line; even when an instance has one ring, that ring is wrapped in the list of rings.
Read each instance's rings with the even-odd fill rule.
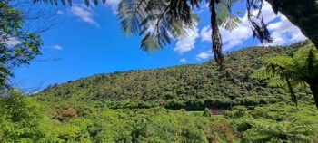
[[[308,41],[286,47],[249,47],[226,54],[226,68],[217,71],[214,61],[171,68],[99,74],[78,81],[54,85],[35,95],[52,106],[94,105],[124,109],[164,106],[168,109],[203,110],[253,106],[289,100],[281,88],[269,88],[266,81],[250,78],[265,58],[292,55]],[[298,91],[300,99],[311,91]]]

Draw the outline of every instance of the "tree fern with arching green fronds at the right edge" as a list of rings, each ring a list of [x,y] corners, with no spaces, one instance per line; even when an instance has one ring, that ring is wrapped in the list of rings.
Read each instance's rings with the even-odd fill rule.
[[[303,47],[293,57],[273,57],[265,60],[264,64],[253,74],[254,78],[270,78],[269,84],[272,85],[285,84],[293,99],[293,84],[308,84],[318,109],[318,50],[313,45]]]

